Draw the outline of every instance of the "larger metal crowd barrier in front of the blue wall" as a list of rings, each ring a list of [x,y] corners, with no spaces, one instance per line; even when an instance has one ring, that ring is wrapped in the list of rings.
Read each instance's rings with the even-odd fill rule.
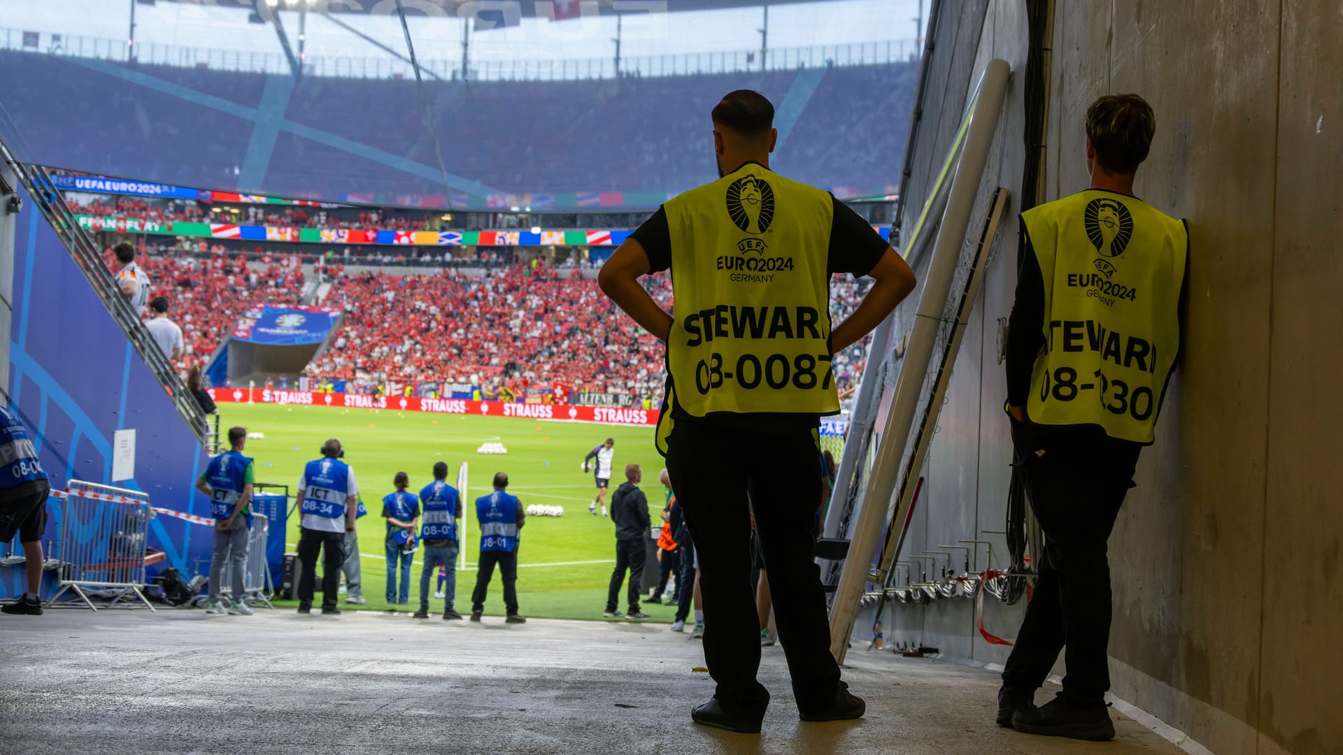
[[[60,516],[60,590],[47,606],[70,590],[95,611],[90,598],[110,598],[103,607],[111,607],[128,595],[153,611],[142,592],[153,516],[146,493],[71,480]]]

